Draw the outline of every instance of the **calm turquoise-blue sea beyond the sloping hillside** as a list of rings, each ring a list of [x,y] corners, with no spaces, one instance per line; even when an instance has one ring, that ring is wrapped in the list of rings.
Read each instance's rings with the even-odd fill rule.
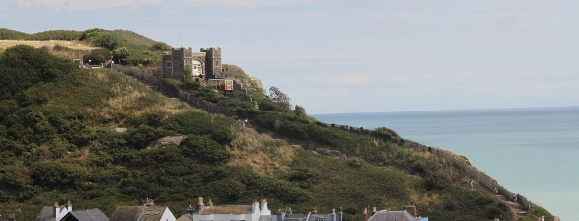
[[[330,124],[386,126],[404,139],[464,155],[513,193],[578,220],[579,107],[314,114]]]

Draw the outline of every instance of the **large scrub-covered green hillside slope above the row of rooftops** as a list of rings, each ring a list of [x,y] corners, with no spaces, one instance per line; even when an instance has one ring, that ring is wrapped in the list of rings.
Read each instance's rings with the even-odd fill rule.
[[[305,115],[247,109],[241,117],[310,147],[342,151],[340,160],[296,150],[249,133],[233,119],[167,102],[136,80],[111,71],[76,70],[46,50],[16,46],[0,54],[0,213],[33,220],[42,206],[139,205],[145,198],[180,215],[196,197],[217,205],[267,198],[345,220],[361,209],[416,204],[432,220],[492,220],[514,215],[436,154],[330,128]],[[116,127],[128,128],[120,133]],[[185,135],[178,146],[148,148]],[[389,135],[385,133],[386,135]],[[389,135],[390,136],[390,135]],[[386,168],[366,162],[383,161]]]

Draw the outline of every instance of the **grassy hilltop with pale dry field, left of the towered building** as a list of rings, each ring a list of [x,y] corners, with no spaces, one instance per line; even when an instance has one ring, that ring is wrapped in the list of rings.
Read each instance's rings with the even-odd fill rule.
[[[50,50],[53,55],[67,59],[83,58],[86,63],[90,59],[93,61],[92,64],[115,60],[116,63],[120,61],[122,64],[133,66],[158,65],[160,55],[171,49],[170,45],[153,41],[132,31],[109,31],[99,28],[86,31],[43,31],[34,34],[0,28],[0,40],[3,40],[0,41],[0,50],[16,44],[48,47],[53,49]],[[96,48],[101,50],[98,51]],[[107,50],[103,52],[102,49]]]

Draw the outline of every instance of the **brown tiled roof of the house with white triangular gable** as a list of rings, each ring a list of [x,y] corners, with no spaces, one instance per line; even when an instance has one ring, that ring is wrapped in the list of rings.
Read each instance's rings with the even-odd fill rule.
[[[111,221],[160,221],[167,206],[116,206]],[[151,211],[148,213],[148,211]],[[159,213],[157,213],[159,211]]]

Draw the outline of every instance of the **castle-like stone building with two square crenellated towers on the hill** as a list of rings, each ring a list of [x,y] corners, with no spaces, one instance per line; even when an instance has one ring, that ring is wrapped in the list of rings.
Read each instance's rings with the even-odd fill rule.
[[[221,75],[221,48],[172,48],[161,56],[162,75],[173,79],[215,78]]]

